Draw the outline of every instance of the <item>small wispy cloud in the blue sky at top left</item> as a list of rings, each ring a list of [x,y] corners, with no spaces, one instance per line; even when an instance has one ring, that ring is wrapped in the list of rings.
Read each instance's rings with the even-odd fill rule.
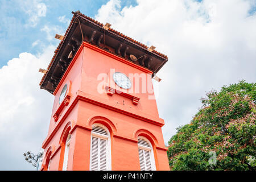
[[[35,27],[40,18],[46,16],[47,7],[41,0],[27,0],[20,2],[21,9],[29,16],[26,26]]]

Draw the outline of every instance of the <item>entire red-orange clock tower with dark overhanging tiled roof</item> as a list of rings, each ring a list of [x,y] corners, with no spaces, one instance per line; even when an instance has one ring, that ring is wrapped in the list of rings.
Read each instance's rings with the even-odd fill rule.
[[[152,78],[167,56],[76,11],[44,73],[41,170],[169,170]]]

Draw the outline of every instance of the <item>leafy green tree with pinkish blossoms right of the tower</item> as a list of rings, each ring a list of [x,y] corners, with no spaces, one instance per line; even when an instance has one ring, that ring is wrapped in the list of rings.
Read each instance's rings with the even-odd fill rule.
[[[255,170],[256,84],[211,91],[188,125],[170,139],[171,170]]]

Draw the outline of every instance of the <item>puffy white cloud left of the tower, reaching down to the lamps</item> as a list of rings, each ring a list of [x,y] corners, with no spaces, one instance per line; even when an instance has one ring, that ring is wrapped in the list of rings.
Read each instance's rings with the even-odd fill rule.
[[[46,138],[53,97],[40,90],[42,73],[55,47],[40,55],[20,53],[0,69],[0,170],[35,169],[24,160],[23,152],[39,152]]]

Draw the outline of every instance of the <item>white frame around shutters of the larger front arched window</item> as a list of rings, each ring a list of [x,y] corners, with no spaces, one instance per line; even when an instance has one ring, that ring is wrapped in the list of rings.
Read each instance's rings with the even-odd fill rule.
[[[97,137],[97,138],[101,138],[101,139],[106,139],[106,170],[107,171],[110,171],[112,169],[112,163],[111,163],[111,137],[110,137],[110,133],[109,133],[109,130],[106,126],[100,124],[100,123],[94,123],[92,125],[92,128],[94,126],[99,126],[99,127],[102,127],[103,129],[106,130],[106,132],[108,133],[108,136],[107,135],[103,135],[103,134],[100,134],[100,133],[94,133],[92,131],[91,133],[91,137],[90,137],[90,171],[92,170],[92,137]]]

